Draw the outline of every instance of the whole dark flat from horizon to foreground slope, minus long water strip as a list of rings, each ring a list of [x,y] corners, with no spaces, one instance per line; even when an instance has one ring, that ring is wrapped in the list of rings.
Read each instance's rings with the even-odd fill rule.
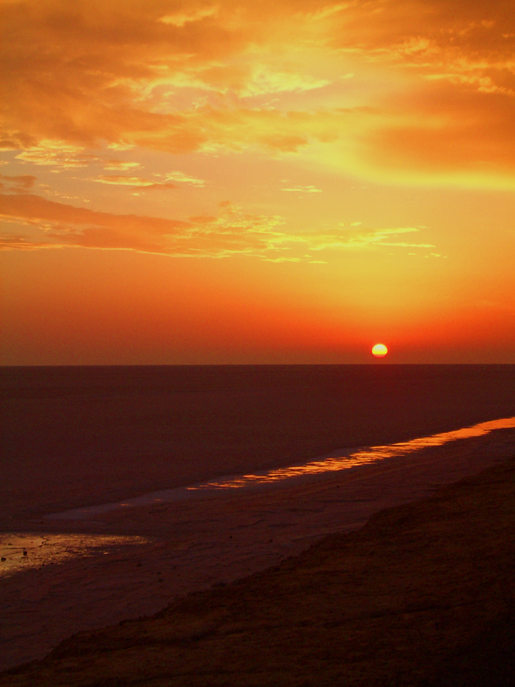
[[[23,569],[0,579],[1,667],[41,658],[82,629],[264,570],[513,453],[513,432],[499,431],[279,491],[51,521],[45,515],[67,508],[513,416],[515,365],[19,368],[2,376],[0,532],[25,539],[9,540]],[[41,564],[47,550],[52,565]]]

